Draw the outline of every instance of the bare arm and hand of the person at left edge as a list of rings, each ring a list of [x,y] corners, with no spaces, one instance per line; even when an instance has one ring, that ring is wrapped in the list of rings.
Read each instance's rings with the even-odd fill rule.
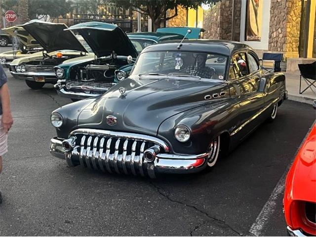
[[[1,105],[2,105],[2,126],[5,132],[8,132],[13,124],[13,118],[10,109],[10,96],[8,84],[4,83],[0,89]]]

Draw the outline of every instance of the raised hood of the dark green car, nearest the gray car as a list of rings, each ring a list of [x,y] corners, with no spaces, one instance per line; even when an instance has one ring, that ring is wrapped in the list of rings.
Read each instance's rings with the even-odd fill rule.
[[[77,31],[89,44],[97,57],[111,55],[115,51],[119,56],[138,55],[132,42],[122,28],[103,22],[86,22],[70,27],[66,31]]]

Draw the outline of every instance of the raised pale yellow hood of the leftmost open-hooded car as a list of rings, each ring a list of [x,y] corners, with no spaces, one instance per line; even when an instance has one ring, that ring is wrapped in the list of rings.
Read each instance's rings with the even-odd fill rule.
[[[30,48],[40,48],[40,44],[27,32],[23,27],[12,26],[2,29],[5,33],[14,37],[14,31],[17,31],[16,36],[20,39],[20,42],[25,45],[28,49]]]

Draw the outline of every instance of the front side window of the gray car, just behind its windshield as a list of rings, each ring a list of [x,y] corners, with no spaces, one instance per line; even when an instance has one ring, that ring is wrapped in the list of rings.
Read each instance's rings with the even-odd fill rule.
[[[229,69],[229,78],[237,79],[244,77],[249,74],[247,60],[245,53],[237,53],[233,56],[230,69]],[[234,78],[233,78],[234,76]]]

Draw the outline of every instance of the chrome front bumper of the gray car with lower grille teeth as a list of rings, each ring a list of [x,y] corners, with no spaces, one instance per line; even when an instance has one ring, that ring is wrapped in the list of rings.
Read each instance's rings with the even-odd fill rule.
[[[156,177],[156,173],[187,174],[203,170],[207,165],[207,153],[200,155],[172,155],[158,154],[153,162],[147,162],[143,154],[139,156],[122,156],[107,153],[101,149],[83,149],[76,146],[72,152],[65,152],[62,142],[65,139],[52,138],[50,153],[57,158],[65,159],[71,167],[81,165],[92,169],[101,169],[110,173],[132,173],[134,175],[148,175]],[[100,153],[99,153],[100,152]]]

